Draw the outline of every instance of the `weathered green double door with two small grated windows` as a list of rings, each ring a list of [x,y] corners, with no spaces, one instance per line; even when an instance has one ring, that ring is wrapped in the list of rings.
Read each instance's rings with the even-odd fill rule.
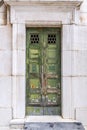
[[[26,115],[61,114],[60,28],[26,30]]]

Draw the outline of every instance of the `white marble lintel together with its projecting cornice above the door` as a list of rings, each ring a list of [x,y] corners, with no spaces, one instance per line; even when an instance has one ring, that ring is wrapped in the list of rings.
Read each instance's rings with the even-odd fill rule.
[[[10,23],[58,26],[79,23],[83,0],[4,0],[10,6]],[[39,16],[39,17],[38,17]]]

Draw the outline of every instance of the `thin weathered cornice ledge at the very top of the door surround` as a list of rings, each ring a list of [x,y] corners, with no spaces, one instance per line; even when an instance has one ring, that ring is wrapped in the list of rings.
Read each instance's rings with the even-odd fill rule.
[[[84,0],[4,0],[9,5],[57,4],[59,6],[78,7]]]

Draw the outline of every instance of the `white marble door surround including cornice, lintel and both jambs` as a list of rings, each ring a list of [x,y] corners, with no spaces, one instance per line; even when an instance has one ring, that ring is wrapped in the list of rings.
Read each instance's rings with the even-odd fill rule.
[[[5,0],[10,5],[12,23],[12,107],[13,119],[25,118],[26,26],[62,27],[62,46],[74,43],[74,26],[79,22],[82,0]],[[65,24],[65,25],[64,25]],[[67,48],[68,50],[68,48]],[[69,59],[69,60],[68,60]],[[62,48],[62,117],[74,119],[72,88],[72,51]],[[67,65],[65,64],[67,62]],[[65,65],[65,66],[64,66]],[[69,69],[67,69],[67,66]],[[67,70],[67,73],[65,73]],[[67,78],[67,76],[70,76]],[[69,83],[69,85],[67,85]],[[20,89],[21,88],[21,89]],[[66,91],[67,90],[67,91]],[[68,96],[67,96],[68,95]],[[20,101],[21,99],[21,101]],[[65,104],[66,102],[66,104]],[[21,110],[20,110],[21,108]],[[39,118],[40,120],[41,118]],[[48,120],[48,118],[47,118]],[[57,120],[58,121],[58,120]],[[13,122],[12,122],[13,123]]]

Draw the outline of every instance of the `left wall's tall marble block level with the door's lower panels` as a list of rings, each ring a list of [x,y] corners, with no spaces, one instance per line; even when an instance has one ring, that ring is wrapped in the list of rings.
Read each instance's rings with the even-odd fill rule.
[[[0,77],[0,107],[11,107],[11,77]]]

